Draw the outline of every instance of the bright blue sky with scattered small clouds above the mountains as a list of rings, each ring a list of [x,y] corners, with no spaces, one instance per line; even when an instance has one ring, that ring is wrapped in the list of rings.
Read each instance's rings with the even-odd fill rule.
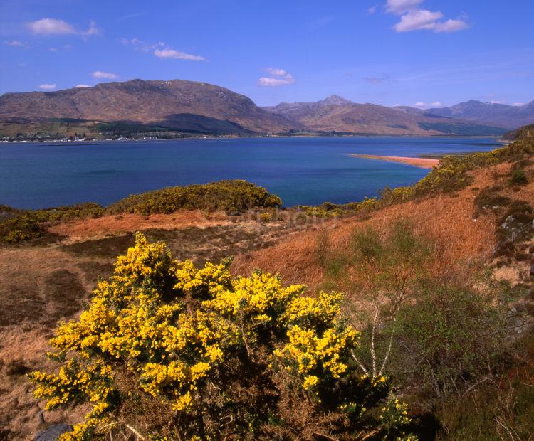
[[[258,105],[534,99],[534,2],[0,0],[0,93],[204,81]]]

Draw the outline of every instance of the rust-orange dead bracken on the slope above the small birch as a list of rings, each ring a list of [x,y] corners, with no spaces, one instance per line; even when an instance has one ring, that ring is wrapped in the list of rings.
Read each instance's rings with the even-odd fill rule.
[[[370,216],[334,219],[323,225],[328,230],[330,245],[335,250],[346,248],[353,228],[372,225],[386,231],[397,219],[410,221],[416,231],[434,238],[441,246],[441,265],[461,260],[488,260],[495,240],[493,215],[473,218],[473,201],[481,188],[506,181],[511,164],[501,164],[471,172],[473,184],[454,194],[440,194],[415,201],[399,203],[370,213]],[[534,201],[534,184],[514,191],[507,188],[514,198]],[[236,274],[248,274],[256,267],[279,273],[287,283],[306,283],[316,289],[323,280],[323,270],[315,256],[318,228],[295,233],[290,238],[248,255],[239,255],[232,270]]]

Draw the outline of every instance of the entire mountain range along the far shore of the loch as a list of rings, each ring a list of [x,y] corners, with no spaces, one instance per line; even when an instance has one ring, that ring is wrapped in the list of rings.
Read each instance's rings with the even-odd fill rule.
[[[36,124],[53,121],[202,134],[488,135],[534,122],[534,101],[507,106],[471,100],[420,110],[331,95],[317,102],[258,107],[224,87],[186,80],[130,80],[0,96],[0,133],[10,126],[35,131]]]

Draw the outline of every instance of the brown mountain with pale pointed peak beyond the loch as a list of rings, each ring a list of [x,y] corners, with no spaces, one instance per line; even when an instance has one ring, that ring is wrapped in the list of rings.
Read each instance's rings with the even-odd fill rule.
[[[312,132],[389,135],[493,135],[504,132],[499,127],[439,117],[409,107],[356,104],[336,95],[317,102],[281,103],[263,108]]]

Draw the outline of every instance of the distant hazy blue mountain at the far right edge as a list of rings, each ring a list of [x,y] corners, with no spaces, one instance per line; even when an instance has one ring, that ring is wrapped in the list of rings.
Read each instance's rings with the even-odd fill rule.
[[[525,105],[511,106],[497,102],[469,100],[450,107],[429,109],[427,112],[441,117],[515,129],[534,123],[534,101]]]

